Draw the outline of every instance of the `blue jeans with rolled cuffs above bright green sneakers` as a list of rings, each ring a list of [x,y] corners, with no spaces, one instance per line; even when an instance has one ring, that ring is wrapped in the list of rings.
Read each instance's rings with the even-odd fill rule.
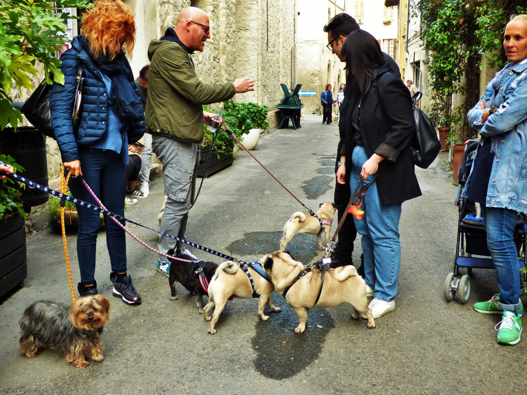
[[[496,269],[497,286],[500,289],[500,310],[514,311],[520,308],[520,263],[514,244],[514,227],[518,213],[514,210],[481,205],[485,221],[487,246]]]

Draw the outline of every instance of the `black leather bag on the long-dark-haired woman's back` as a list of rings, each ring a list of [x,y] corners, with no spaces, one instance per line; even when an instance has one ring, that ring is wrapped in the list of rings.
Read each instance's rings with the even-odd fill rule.
[[[418,94],[421,93],[416,93],[414,98]],[[423,94],[421,94],[421,96],[422,95]],[[435,126],[432,121],[428,119],[421,108],[415,105],[416,101],[419,100],[421,96],[416,100],[412,100],[416,132],[410,142],[410,147],[412,149],[412,154],[414,155],[415,164],[421,167],[421,169],[426,169],[436,159],[439,151],[441,151],[441,143],[437,137],[437,132],[435,131]]]

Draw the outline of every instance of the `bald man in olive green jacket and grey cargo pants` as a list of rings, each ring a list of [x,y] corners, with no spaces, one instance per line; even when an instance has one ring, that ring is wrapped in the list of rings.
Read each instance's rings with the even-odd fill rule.
[[[175,28],[169,27],[148,48],[151,63],[147,131],[152,134],[152,150],[163,164],[164,192],[168,196],[161,232],[179,238],[185,237],[188,212],[194,201],[203,122],[208,124],[216,115],[203,111],[203,104],[222,102],[235,93],[254,90],[254,82],[247,77],[217,85],[201,82],[190,55],[203,52],[209,30],[207,14],[197,7],[187,7],[178,15]],[[175,249],[175,253],[193,256],[182,246],[163,235],[158,243],[163,253]],[[157,270],[168,276],[170,261],[158,259]]]

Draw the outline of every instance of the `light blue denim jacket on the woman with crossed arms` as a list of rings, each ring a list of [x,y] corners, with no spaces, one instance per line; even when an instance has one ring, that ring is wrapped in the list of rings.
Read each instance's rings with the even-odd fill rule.
[[[494,102],[492,80],[485,94],[469,111],[470,125],[483,137],[496,137],[495,160],[487,189],[486,206],[527,212],[527,59],[505,70],[508,74],[497,92],[502,103],[485,123],[481,117],[485,110],[478,110],[485,101],[489,108]],[[499,74],[496,74],[499,76]],[[496,78],[496,77],[495,77]],[[500,97],[501,95],[501,97]],[[494,145],[494,144],[493,144]],[[478,147],[479,148],[479,147]],[[477,153],[476,153],[477,155]],[[474,166],[475,161],[472,166]],[[472,174],[471,169],[471,174]],[[463,189],[466,197],[470,187],[470,175]]]

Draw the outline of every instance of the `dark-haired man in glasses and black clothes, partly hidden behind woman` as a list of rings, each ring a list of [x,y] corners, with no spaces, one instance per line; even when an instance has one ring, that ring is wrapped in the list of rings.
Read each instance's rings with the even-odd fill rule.
[[[346,41],[348,35],[356,30],[360,29],[357,21],[351,15],[346,13],[341,13],[335,15],[331,18],[331,21],[324,26],[324,32],[328,34],[328,49],[337,55],[341,62],[345,62],[346,58],[341,53],[342,46]],[[390,64],[392,73],[397,74],[399,77],[401,73],[399,72],[399,66],[393,60],[391,56],[383,52],[384,60]],[[340,152],[345,152],[346,147],[344,146],[344,137],[345,137],[345,125],[346,125],[346,111],[348,108],[348,103],[354,103],[356,95],[351,91],[352,85],[346,82],[344,88],[344,101],[340,105],[340,116],[338,120],[338,128],[340,133],[340,141],[337,147],[337,160],[335,164],[335,173],[339,167],[339,158]],[[345,166],[346,164],[340,164]],[[335,204],[337,205],[337,218],[338,221],[342,218],[346,206],[348,205],[349,198],[351,197],[351,191],[349,186],[349,177],[346,177],[346,184],[335,183]],[[342,228],[338,233],[338,242],[335,246],[335,250],[331,254],[331,267],[337,268],[338,266],[344,265],[353,265],[352,253],[354,249],[353,243],[357,238],[357,230],[355,229],[355,222],[353,221],[353,216],[348,215]],[[362,256],[361,256],[362,258]],[[364,277],[364,269],[362,266],[358,270],[359,274]],[[369,295],[368,295],[369,296]],[[373,294],[371,295],[373,296]]]

